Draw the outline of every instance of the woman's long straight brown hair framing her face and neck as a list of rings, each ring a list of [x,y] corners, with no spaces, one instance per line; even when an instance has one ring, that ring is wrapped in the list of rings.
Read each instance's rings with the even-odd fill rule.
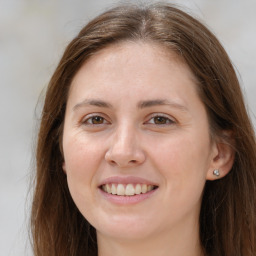
[[[155,42],[176,52],[198,81],[211,134],[231,131],[230,173],[207,181],[200,238],[207,255],[256,255],[256,146],[238,79],[225,50],[200,22],[170,4],[118,6],[95,18],[67,46],[42,111],[31,215],[36,256],[97,255],[95,229],[76,208],[62,170],[62,131],[71,81],[100,49],[122,41]]]

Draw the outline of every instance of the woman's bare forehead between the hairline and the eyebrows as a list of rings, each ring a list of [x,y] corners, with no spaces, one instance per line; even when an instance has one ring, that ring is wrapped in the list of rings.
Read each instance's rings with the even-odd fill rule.
[[[118,113],[128,113],[141,102],[161,101],[182,106],[196,117],[205,112],[196,88],[190,68],[174,52],[150,43],[111,45],[93,55],[75,75],[67,112],[97,102],[98,107],[104,103]]]

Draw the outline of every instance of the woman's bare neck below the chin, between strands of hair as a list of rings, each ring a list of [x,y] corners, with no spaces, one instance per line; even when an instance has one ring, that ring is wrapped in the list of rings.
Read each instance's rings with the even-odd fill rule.
[[[142,239],[116,239],[97,233],[99,256],[202,256],[198,226],[186,232],[154,234]]]

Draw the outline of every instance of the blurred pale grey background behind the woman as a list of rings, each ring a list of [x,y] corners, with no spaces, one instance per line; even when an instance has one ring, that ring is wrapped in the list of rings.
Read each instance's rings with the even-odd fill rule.
[[[0,0],[1,255],[32,255],[28,239],[29,182],[34,171],[40,95],[68,42],[85,23],[116,2]],[[256,124],[256,1],[166,2],[183,6],[220,39],[237,69]]]

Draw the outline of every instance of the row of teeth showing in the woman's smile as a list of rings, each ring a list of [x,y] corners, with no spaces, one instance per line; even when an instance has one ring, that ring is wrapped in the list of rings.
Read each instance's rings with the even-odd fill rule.
[[[102,186],[103,191],[108,194],[119,196],[134,196],[139,194],[145,194],[154,189],[153,185],[147,184],[106,184]]]

